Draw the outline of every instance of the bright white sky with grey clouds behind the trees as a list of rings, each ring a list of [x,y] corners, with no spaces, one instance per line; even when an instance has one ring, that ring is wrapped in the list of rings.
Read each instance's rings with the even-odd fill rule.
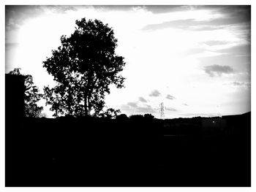
[[[113,28],[127,63],[125,88],[111,87],[108,107],[156,118],[162,102],[165,118],[251,110],[248,6],[7,6],[5,15],[6,73],[20,67],[40,90],[54,85],[42,61],[61,35],[97,18]]]

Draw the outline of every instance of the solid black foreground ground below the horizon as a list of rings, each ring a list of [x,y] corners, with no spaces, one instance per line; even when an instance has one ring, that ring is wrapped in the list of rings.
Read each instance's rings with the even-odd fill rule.
[[[250,120],[7,118],[6,186],[250,186]]]

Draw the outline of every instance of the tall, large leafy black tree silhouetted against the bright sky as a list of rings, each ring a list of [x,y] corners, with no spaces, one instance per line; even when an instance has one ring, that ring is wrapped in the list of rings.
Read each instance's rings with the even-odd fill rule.
[[[76,20],[75,32],[61,37],[61,46],[43,66],[54,80],[56,87],[45,87],[45,99],[52,105],[54,116],[99,116],[105,107],[105,93],[110,84],[124,86],[119,72],[125,65],[124,58],[116,55],[117,39],[113,28],[100,20]]]

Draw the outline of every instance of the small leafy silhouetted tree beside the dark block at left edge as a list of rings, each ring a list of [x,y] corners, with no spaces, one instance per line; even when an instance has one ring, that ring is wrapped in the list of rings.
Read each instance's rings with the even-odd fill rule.
[[[25,116],[29,118],[41,117],[43,107],[37,106],[37,101],[42,98],[42,94],[36,85],[34,85],[31,74],[20,74],[20,68],[15,68],[9,74],[22,75],[25,78]]]

